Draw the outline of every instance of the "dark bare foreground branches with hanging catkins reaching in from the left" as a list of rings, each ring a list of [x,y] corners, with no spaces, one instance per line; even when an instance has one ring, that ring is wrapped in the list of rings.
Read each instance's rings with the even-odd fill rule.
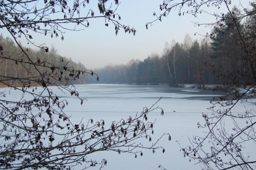
[[[118,0],[115,2],[118,4]],[[70,81],[79,79],[83,74],[94,76],[95,73],[68,67],[61,58],[56,63],[32,59],[29,49],[19,42],[20,37],[26,37],[28,42],[34,44],[31,41],[33,32],[51,37],[61,36],[63,40],[64,30],[84,29],[89,26],[91,19],[97,18],[104,18],[105,26],[114,24],[116,34],[120,28],[124,28],[125,32],[135,35],[134,28],[119,23],[121,17],[115,9],[112,10],[111,5],[107,7],[107,0],[99,0],[99,15],[88,9],[87,3],[89,0],[0,2],[0,28],[7,29],[19,47],[18,54],[14,55],[6,53],[5,47],[0,45],[0,64],[14,62],[27,73],[24,77],[9,77],[5,72],[0,75],[0,85],[22,92],[21,97],[15,99],[8,99],[7,91],[0,92],[1,169],[71,169],[78,164],[84,168],[95,165],[101,168],[107,165],[107,160],[91,160],[91,153],[128,152],[135,153],[136,157],[136,154],[142,155],[142,149],[154,151],[162,148],[156,145],[158,140],[152,144],[149,135],[153,133],[154,121],[148,121],[147,114],[160,109],[154,105],[143,108],[133,118],[113,122],[110,127],[104,126],[104,120],[93,122],[89,119],[72,123],[63,111],[68,101],[57,96],[50,86],[55,85],[62,92],[76,96],[83,104],[85,99],[79,97],[79,92]],[[48,47],[36,46],[48,52]],[[164,114],[161,109],[160,112]],[[147,138],[149,145],[137,142],[140,138]]]

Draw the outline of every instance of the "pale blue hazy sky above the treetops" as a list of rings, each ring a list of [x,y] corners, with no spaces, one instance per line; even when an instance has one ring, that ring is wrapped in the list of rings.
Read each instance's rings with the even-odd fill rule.
[[[97,2],[97,1],[95,1]],[[97,3],[90,1],[88,8],[92,8],[95,13],[99,12]],[[116,7],[114,0],[113,7]],[[232,5],[239,5],[239,0],[232,0]],[[161,55],[164,44],[171,44],[172,40],[182,43],[185,34],[188,33],[193,40],[202,39],[198,32],[206,34],[211,32],[212,28],[204,28],[203,26],[194,26],[192,21],[199,23],[211,23],[215,21],[214,17],[206,14],[199,14],[196,18],[186,14],[178,16],[178,10],[169,14],[168,17],[162,18],[162,22],[156,21],[146,30],[146,23],[153,21],[153,12],[159,14],[159,5],[162,0],[119,0],[117,13],[121,16],[121,23],[129,25],[136,29],[136,34],[124,33],[119,31],[116,36],[114,26],[105,26],[104,19],[89,20],[89,28],[82,31],[66,31],[64,41],[59,38],[50,38],[50,35],[40,35],[33,40],[36,43],[45,43],[49,48],[55,45],[60,55],[70,57],[73,61],[80,61],[87,68],[98,68],[107,64],[126,64],[130,59],[144,60],[152,53]],[[241,0],[244,7],[248,7],[248,0]],[[85,9],[88,9],[85,8]],[[222,11],[216,8],[208,8],[206,11],[227,13],[225,6]],[[4,37],[5,31],[2,31]],[[21,41],[22,42],[22,41]],[[26,42],[22,42],[26,45]]]

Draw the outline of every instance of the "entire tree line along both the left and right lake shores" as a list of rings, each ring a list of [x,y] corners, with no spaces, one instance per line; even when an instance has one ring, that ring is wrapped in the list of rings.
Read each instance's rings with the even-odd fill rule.
[[[237,12],[234,10],[234,12]],[[226,14],[228,15],[228,14]],[[237,14],[238,16],[239,14]],[[228,21],[227,21],[228,22]],[[239,28],[244,35],[254,36],[253,31],[256,29],[256,24],[253,20],[245,20],[239,23]],[[226,29],[223,33],[223,29]],[[237,59],[244,55],[240,49],[237,39],[239,35],[236,28],[214,27],[214,34],[209,35],[204,40],[192,40],[190,35],[186,34],[182,43],[172,41],[171,45],[166,43],[161,55],[152,53],[140,61],[139,59],[131,59],[127,64],[111,65],[108,64],[103,68],[96,68],[93,70],[97,76],[81,75],[72,83],[113,83],[113,84],[137,84],[137,85],[159,85],[168,84],[177,87],[180,84],[198,84],[205,89],[205,84],[222,84],[231,85],[229,80],[221,78],[221,74],[230,74],[232,78],[240,77],[235,72],[243,70],[246,74],[249,69],[248,64],[244,64],[242,60]],[[254,43],[254,38],[248,37],[251,43]],[[250,42],[249,42],[250,43]],[[15,45],[12,39],[0,35],[0,45],[5,53],[9,56],[19,56],[21,61],[25,60],[19,47]],[[43,72],[53,72],[51,70],[52,64],[73,68],[74,70],[86,70],[82,63],[73,62],[71,58],[62,57],[58,54],[54,45],[49,52],[43,49],[38,51],[28,48],[27,52],[30,54],[32,61],[45,62],[49,67],[42,67]],[[23,62],[26,64],[26,62]],[[16,61],[1,59],[0,74],[6,79],[8,77],[25,77],[28,73],[34,71],[33,67],[25,70],[24,67],[17,64]],[[216,73],[218,72],[218,73]],[[233,74],[233,75],[232,75]],[[34,75],[39,76],[39,75]],[[62,78],[70,77],[70,75],[62,75]],[[55,80],[51,80],[55,81]],[[13,83],[13,82],[12,82]],[[15,84],[16,82],[14,82]]]

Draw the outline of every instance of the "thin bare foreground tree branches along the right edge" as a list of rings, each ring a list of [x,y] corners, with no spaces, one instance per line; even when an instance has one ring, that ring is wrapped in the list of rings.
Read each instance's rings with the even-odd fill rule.
[[[214,16],[216,21],[211,23],[198,23],[198,26],[215,26],[212,33],[206,33],[206,37],[220,38],[228,35],[228,41],[233,46],[223,48],[222,55],[227,59],[228,68],[225,63],[220,62],[214,66],[209,62],[212,71],[218,78],[223,80],[224,85],[230,85],[232,89],[227,96],[214,98],[209,109],[211,114],[203,113],[204,123],[198,123],[198,127],[204,127],[206,136],[194,136],[190,138],[191,145],[181,150],[184,156],[190,160],[197,160],[204,169],[254,169],[256,159],[252,148],[255,148],[255,99],[256,95],[256,48],[255,48],[255,16],[256,4],[251,2],[251,9],[242,6],[230,8],[232,0],[164,0],[160,5],[162,13],[157,15],[156,20],[163,20],[178,9],[178,14],[192,14],[197,17],[200,14]],[[210,13],[209,8],[225,8],[227,14]],[[244,20],[243,20],[244,19]],[[242,25],[241,21],[244,21]],[[223,57],[222,56],[222,57]],[[218,55],[216,57],[219,57]],[[236,106],[242,104],[244,111],[237,113]],[[225,123],[231,121],[232,126]],[[230,123],[228,123],[230,124]]]

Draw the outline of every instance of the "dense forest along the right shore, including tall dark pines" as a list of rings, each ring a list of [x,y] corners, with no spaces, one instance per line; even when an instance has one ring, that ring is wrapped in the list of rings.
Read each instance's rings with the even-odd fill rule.
[[[239,16],[236,7],[233,8],[233,13]],[[244,35],[249,35],[255,30],[253,20],[240,20],[238,24]],[[236,59],[236,55],[242,52],[237,45],[239,35],[236,28],[226,25],[224,29],[225,33],[223,28],[220,29],[220,26],[216,25],[215,33],[200,41],[193,41],[187,34],[182,43],[175,40],[171,45],[166,43],[161,55],[153,53],[144,61],[131,59],[127,64],[107,65],[96,69],[94,71],[100,77],[97,83],[150,85],[165,83],[174,87],[192,83],[200,85],[203,89],[205,84],[230,85],[213,70],[223,74],[232,73],[231,68],[241,65],[242,68],[237,67],[237,69],[246,72],[248,66]],[[239,77],[239,75],[234,76]],[[87,83],[96,83],[96,78],[89,77]]]

